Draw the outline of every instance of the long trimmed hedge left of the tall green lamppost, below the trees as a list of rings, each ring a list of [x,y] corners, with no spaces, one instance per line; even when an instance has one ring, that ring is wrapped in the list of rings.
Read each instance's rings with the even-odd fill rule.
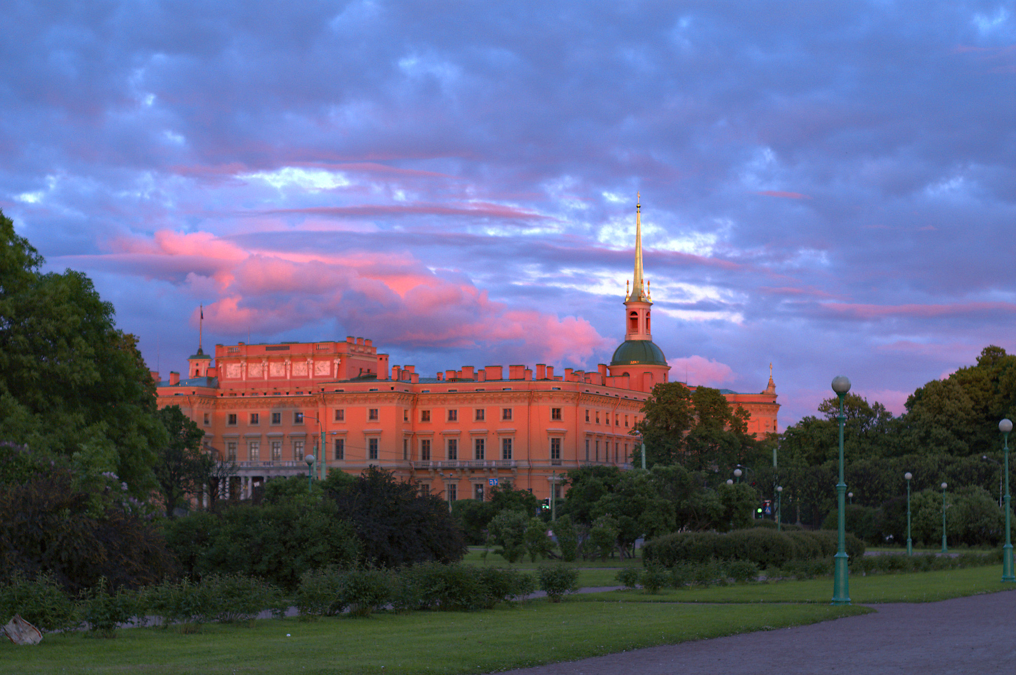
[[[775,532],[769,529],[727,533],[679,532],[658,537],[642,547],[642,564],[674,567],[678,563],[710,560],[747,560],[762,569],[782,567],[790,560],[813,560],[836,554],[836,533]],[[858,558],[865,544],[846,535],[846,554]]]

